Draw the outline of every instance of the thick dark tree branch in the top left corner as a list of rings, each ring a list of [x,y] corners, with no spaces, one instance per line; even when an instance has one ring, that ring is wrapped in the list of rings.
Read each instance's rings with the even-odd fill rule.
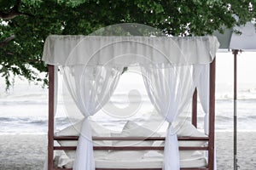
[[[12,20],[16,16],[20,16],[20,15],[33,16],[32,14],[20,12],[19,11],[20,3],[21,3],[21,0],[17,0],[15,6],[11,8],[11,10],[8,13],[4,11],[0,11],[0,18],[3,20]]]

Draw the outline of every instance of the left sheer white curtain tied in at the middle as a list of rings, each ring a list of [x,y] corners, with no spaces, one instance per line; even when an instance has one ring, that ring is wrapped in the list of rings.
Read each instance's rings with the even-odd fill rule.
[[[119,82],[123,68],[108,65],[69,65],[63,66],[63,79],[84,122],[77,146],[74,170],[95,169],[93,144],[88,117],[93,116],[105,105]]]

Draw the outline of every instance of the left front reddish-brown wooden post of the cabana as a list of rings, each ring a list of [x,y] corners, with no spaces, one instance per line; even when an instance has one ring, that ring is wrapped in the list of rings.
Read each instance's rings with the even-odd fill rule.
[[[48,124],[48,170],[54,169],[54,111],[55,111],[55,66],[49,69],[49,124]]]

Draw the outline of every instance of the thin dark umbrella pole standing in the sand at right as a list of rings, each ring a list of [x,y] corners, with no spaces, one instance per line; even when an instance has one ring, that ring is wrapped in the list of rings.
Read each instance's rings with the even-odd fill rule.
[[[234,54],[234,170],[237,170],[237,54],[238,50],[233,50]]]

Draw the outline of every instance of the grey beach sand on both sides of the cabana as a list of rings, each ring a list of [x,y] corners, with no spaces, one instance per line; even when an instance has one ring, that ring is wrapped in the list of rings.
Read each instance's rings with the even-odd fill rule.
[[[239,170],[256,169],[256,132],[238,133]],[[216,133],[219,170],[233,169],[233,133]],[[1,170],[42,170],[47,149],[47,135],[0,135]]]

